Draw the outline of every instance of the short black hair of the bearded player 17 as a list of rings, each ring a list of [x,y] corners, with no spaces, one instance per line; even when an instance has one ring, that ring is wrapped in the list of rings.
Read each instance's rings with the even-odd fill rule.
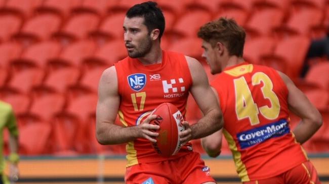
[[[144,24],[150,33],[153,29],[159,29],[159,39],[163,32],[165,31],[165,17],[161,9],[157,6],[155,2],[145,2],[141,4],[134,5],[126,13],[126,17],[143,17]]]

